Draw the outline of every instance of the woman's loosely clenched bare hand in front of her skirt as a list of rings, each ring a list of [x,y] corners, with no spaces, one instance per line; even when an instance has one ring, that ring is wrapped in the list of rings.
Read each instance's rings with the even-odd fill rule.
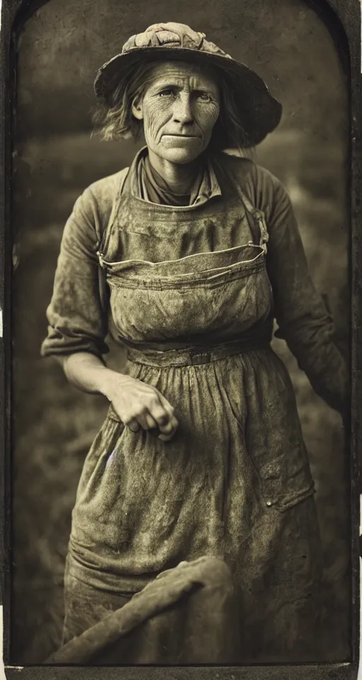
[[[129,375],[113,373],[106,396],[132,432],[158,429],[158,437],[163,441],[169,441],[175,434],[178,421],[174,409],[156,387]]]

